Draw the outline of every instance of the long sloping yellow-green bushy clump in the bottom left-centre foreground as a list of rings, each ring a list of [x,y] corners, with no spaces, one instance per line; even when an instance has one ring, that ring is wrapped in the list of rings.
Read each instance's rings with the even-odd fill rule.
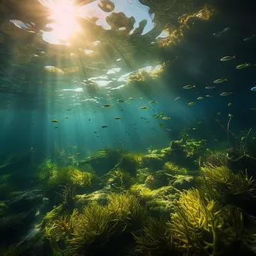
[[[64,255],[95,255],[122,234],[129,234],[144,225],[147,210],[134,195],[110,194],[109,204],[93,202],[82,213],[58,217],[45,229],[52,252]],[[64,245],[61,249],[60,246]]]

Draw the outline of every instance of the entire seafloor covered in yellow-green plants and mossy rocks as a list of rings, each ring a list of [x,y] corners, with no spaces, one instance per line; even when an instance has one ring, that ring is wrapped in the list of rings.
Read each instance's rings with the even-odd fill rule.
[[[62,154],[64,155],[64,154]],[[255,255],[255,148],[104,148],[0,166],[1,255]]]

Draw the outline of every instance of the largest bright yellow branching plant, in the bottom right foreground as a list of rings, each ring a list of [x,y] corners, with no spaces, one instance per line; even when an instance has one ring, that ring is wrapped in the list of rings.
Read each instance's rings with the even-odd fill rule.
[[[239,250],[248,237],[254,237],[245,233],[243,214],[238,208],[223,208],[198,189],[181,193],[168,228],[174,246],[192,255],[220,255],[228,253],[232,246]]]

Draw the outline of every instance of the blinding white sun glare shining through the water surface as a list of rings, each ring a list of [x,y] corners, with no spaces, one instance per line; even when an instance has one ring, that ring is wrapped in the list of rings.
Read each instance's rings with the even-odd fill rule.
[[[54,19],[55,23],[48,26],[53,29],[53,33],[59,40],[68,40],[74,33],[80,31],[79,24],[76,22],[76,7],[73,1],[58,0],[53,2],[49,8],[52,14],[49,19]]]

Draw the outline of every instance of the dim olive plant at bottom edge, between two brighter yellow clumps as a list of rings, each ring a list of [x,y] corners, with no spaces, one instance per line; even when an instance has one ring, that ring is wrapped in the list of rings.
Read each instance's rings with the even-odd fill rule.
[[[171,232],[166,225],[166,219],[150,218],[144,228],[133,234],[135,238],[135,252],[139,255],[168,255],[174,252]]]

